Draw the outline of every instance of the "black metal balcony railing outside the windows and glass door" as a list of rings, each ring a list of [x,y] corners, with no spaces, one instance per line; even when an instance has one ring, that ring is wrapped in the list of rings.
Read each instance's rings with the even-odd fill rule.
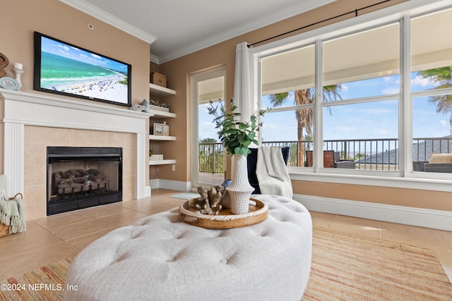
[[[290,147],[287,166],[305,166],[306,151],[312,150],[312,141],[262,142],[263,146]],[[338,159],[355,161],[355,168],[374,171],[398,171],[398,139],[324,140],[323,150],[338,153]],[[451,154],[452,137],[413,138],[412,161],[429,161],[432,153]],[[225,149],[222,143],[199,143],[199,170],[224,173]]]

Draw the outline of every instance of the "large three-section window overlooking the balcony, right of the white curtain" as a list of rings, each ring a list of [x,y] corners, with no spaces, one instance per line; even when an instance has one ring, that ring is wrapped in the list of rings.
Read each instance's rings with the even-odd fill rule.
[[[263,47],[262,145],[290,145],[299,171],[408,178],[452,154],[452,9],[420,11]]]

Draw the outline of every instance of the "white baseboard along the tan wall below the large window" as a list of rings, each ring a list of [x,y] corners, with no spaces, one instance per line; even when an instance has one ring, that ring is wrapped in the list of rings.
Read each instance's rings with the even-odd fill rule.
[[[452,211],[294,195],[308,210],[452,231]]]

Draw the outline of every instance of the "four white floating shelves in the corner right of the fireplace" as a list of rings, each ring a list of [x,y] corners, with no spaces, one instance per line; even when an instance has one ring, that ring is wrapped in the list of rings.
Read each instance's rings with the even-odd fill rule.
[[[162,87],[159,85],[149,84],[149,90],[153,97],[165,97],[169,95],[175,95],[176,91]],[[166,118],[176,118],[175,113],[165,112],[155,109],[149,109],[150,118],[153,119],[166,119]],[[162,135],[149,135],[149,140],[155,141],[174,141],[176,137],[174,136],[162,136]],[[175,159],[165,159],[165,160],[149,160],[150,166],[165,165],[165,164],[176,164]]]

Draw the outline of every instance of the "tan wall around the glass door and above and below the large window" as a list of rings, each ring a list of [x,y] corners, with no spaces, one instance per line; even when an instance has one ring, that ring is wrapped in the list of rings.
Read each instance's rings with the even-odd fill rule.
[[[359,3],[358,3],[359,2]],[[169,154],[169,157],[175,157],[177,160],[176,172],[171,171],[169,167],[160,169],[160,178],[167,178],[171,180],[188,181],[191,179],[191,166],[189,164],[189,149],[191,141],[189,141],[190,129],[186,125],[190,124],[190,104],[189,104],[189,75],[200,70],[213,68],[215,66],[225,66],[227,70],[226,75],[226,97],[232,96],[234,91],[234,59],[235,47],[240,42],[254,43],[280,33],[293,30],[304,25],[319,22],[326,18],[337,16],[341,13],[353,11],[356,8],[376,4],[380,1],[354,1],[354,0],[339,0],[328,6],[318,8],[314,11],[304,13],[299,16],[284,20],[275,25],[264,27],[261,30],[249,32],[246,35],[227,40],[213,47],[208,47],[194,54],[189,54],[179,59],[162,63],[160,65],[160,73],[168,76],[168,85],[174,90],[177,90],[177,95],[170,97],[172,108],[177,113],[176,126],[174,129],[177,141],[172,142],[171,146],[164,147],[162,152]],[[359,14],[375,11],[376,8],[399,4],[404,0],[394,0],[369,8],[366,11],[361,11]],[[353,15],[347,15],[341,20],[352,18]],[[314,27],[309,27],[304,30],[312,30],[316,27],[321,27],[340,19],[328,21]],[[296,32],[299,34],[302,31]],[[287,37],[287,36],[285,36]],[[273,42],[273,41],[272,41]],[[179,164],[179,162],[182,162]],[[182,169],[182,170],[181,170]],[[400,206],[420,207],[428,209],[439,209],[452,211],[452,204],[449,202],[450,192],[436,192],[429,190],[410,190],[405,188],[386,188],[370,185],[343,185],[335,183],[321,183],[310,181],[292,181],[294,192],[301,195],[315,195],[319,197],[331,197],[338,199],[350,199],[364,202],[376,202],[382,204],[395,204]]]

